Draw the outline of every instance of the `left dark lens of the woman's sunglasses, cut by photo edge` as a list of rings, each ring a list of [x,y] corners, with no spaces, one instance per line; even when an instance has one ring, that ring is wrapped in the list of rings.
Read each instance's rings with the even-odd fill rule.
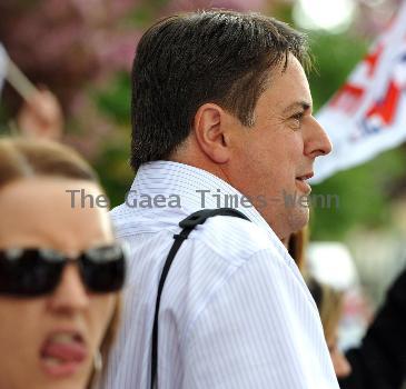
[[[51,292],[63,263],[50,261],[41,250],[11,249],[0,252],[0,293],[37,297]]]

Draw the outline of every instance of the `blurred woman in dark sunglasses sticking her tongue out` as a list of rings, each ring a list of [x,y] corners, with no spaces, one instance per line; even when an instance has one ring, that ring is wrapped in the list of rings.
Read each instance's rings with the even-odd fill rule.
[[[107,358],[123,251],[69,190],[102,194],[70,149],[0,139],[0,389],[90,388]]]

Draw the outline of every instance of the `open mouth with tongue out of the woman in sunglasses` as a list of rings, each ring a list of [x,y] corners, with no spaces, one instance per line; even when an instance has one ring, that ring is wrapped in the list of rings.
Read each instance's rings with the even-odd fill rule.
[[[53,332],[42,343],[40,358],[43,370],[52,377],[76,373],[88,356],[85,340],[79,332]]]

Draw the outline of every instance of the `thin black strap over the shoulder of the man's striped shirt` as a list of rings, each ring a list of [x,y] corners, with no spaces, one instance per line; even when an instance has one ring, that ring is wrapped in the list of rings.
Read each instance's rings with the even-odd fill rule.
[[[154,389],[155,381],[157,379],[157,367],[158,367],[158,316],[159,316],[159,305],[160,297],[162,295],[164,283],[168,276],[170,266],[178,252],[181,243],[188,238],[189,233],[195,229],[196,226],[202,225],[208,218],[214,216],[232,216],[240,219],[249,220],[244,213],[237,211],[232,208],[219,208],[219,209],[202,209],[195,213],[189,215],[186,219],[179,222],[179,227],[182,228],[180,233],[175,235],[175,242],[170,248],[167,260],[160,276],[157,301],[155,306],[155,317],[154,317],[154,329],[152,329],[152,361],[151,361],[151,389]]]

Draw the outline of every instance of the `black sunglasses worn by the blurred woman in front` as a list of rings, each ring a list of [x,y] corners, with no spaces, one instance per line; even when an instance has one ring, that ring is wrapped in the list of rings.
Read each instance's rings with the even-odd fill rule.
[[[67,263],[77,263],[86,288],[108,293],[122,288],[126,252],[121,245],[91,248],[78,258],[51,249],[0,250],[0,295],[38,297],[52,292]]]

